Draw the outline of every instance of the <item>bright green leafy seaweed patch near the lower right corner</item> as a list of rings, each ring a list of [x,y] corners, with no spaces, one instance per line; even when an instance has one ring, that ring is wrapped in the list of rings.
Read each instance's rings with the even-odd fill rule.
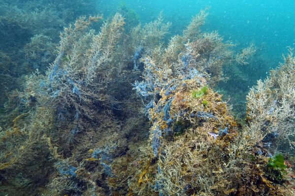
[[[284,155],[277,153],[270,157],[267,164],[267,177],[275,183],[283,183],[284,175],[287,174],[287,166],[284,164]]]

